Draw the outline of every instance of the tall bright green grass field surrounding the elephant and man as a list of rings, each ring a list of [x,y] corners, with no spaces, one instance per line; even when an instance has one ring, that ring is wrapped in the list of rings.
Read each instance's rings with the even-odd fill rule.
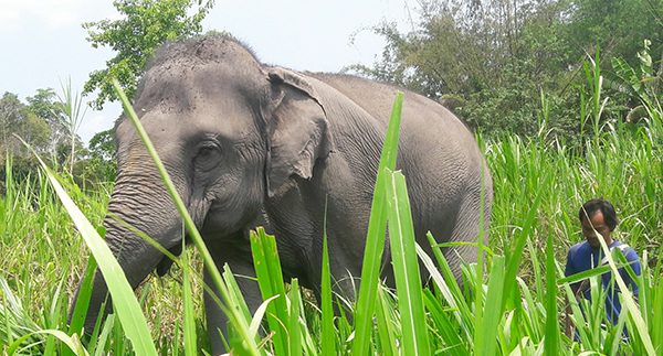
[[[663,321],[657,315],[663,310],[663,110],[653,103],[648,106],[646,122],[599,125],[594,119],[601,116],[602,100],[600,86],[596,87],[587,106],[579,110],[591,131],[580,149],[571,150],[548,138],[545,120],[538,138],[505,134],[481,140],[493,175],[495,202],[485,265],[465,268],[465,287],[471,292],[460,290],[448,278],[445,262],[438,253],[430,257],[442,266],[430,270],[431,289],[399,283],[393,291],[377,280],[365,281],[359,300],[347,311],[356,321],[352,325],[346,314],[334,315],[334,298],[325,288],[328,280],[323,281],[319,308],[296,282],[285,285],[280,280],[277,260],[269,257],[273,239],[259,230],[253,239],[254,256],[266,262],[259,280],[263,293],[277,296],[253,317],[241,308],[232,276],[221,271],[225,273],[218,282],[227,292],[225,301],[240,305],[233,316],[238,337],[230,344],[240,354],[276,355],[663,353]],[[543,104],[545,117],[545,97]],[[386,143],[385,170],[380,170],[371,212],[376,234],[367,244],[380,246],[385,220],[392,222],[391,242],[402,244],[399,247],[404,251],[394,261],[394,270],[407,280],[418,273],[413,270],[418,256],[413,244],[408,242],[412,236],[404,181],[400,173],[389,170],[396,141]],[[6,164],[11,165],[11,161]],[[92,338],[81,341],[80,328],[66,324],[66,314],[88,249],[69,214],[74,205],[61,203],[49,180],[65,187],[93,227],[102,224],[112,184],[81,190],[66,174],[39,173],[15,181],[11,169],[7,171],[7,192],[0,197],[1,352],[194,355],[207,347],[199,277],[204,258],[194,248],[183,253],[181,266],[173,267],[169,277],[151,278],[136,293],[145,320],[138,317],[136,325],[130,325],[116,308],[117,315],[99,325]],[[617,206],[621,219],[618,238],[635,248],[644,261],[638,279],[640,296],[638,304],[625,300],[618,325],[606,327],[601,327],[604,310],[600,302],[585,305],[585,314],[572,303],[580,335],[580,341],[573,342],[562,332],[568,283],[573,281],[564,280],[564,263],[568,247],[581,240],[578,208],[599,196]],[[74,215],[74,220],[86,240],[94,241],[94,231],[81,227],[83,219]],[[365,265],[376,259],[367,256]],[[99,265],[107,262],[97,260]],[[432,266],[432,260],[427,262]],[[620,265],[620,259],[613,262]],[[596,281],[598,272],[581,277]],[[118,285],[122,292],[122,283]],[[594,285],[594,290],[600,294],[600,287]],[[129,304],[125,313],[130,313]],[[254,321],[263,315],[267,332],[261,334]],[[622,326],[629,331],[628,341],[622,337]]]

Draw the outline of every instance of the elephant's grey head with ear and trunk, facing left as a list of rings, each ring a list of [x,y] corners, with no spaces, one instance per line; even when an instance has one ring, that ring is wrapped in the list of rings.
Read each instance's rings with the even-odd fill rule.
[[[303,77],[260,64],[239,42],[203,37],[161,48],[134,108],[206,242],[234,244],[263,217],[265,202],[313,175],[333,150],[324,103]],[[182,223],[131,123],[116,126],[118,176],[106,241],[136,288],[169,267],[124,227],[166,249],[181,246]],[[86,328],[106,296],[97,272]]]

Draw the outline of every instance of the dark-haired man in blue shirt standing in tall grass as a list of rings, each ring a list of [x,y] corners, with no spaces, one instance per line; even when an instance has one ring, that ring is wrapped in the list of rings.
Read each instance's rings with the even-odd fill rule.
[[[629,247],[629,245],[613,239],[611,236],[612,231],[617,227],[618,222],[614,207],[612,204],[610,204],[610,202],[604,199],[591,199],[585,203],[578,213],[578,218],[580,219],[580,225],[582,225],[582,235],[585,236],[586,240],[576,244],[570,248],[567,256],[565,270],[566,277],[608,263],[601,249],[599,239],[603,239],[611,251],[614,251],[615,249],[620,250],[625,257],[633,272],[636,276],[640,276],[640,259],[638,258],[635,250]],[[596,233],[598,233],[598,235]],[[620,268],[619,274],[629,289],[633,292],[633,295],[638,295],[638,285],[625,268]],[[619,313],[621,312],[621,303],[618,295],[619,287],[613,280],[612,272],[606,272],[601,274],[601,285],[606,291],[606,313],[608,320],[614,324],[617,323]],[[591,298],[589,283],[587,280],[585,282],[571,284],[571,290],[576,296],[582,294],[582,296],[587,300],[590,300]],[[570,337],[571,322],[569,314],[570,306],[567,306],[566,332]]]

